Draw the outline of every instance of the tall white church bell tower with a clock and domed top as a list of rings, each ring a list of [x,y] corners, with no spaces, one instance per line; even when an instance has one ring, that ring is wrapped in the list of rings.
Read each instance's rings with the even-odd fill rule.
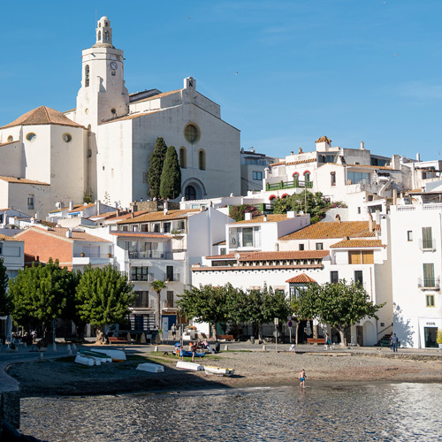
[[[127,115],[128,104],[123,51],[114,48],[110,19],[103,16],[97,23],[94,46],[82,52],[75,120],[96,132],[99,124]]]

